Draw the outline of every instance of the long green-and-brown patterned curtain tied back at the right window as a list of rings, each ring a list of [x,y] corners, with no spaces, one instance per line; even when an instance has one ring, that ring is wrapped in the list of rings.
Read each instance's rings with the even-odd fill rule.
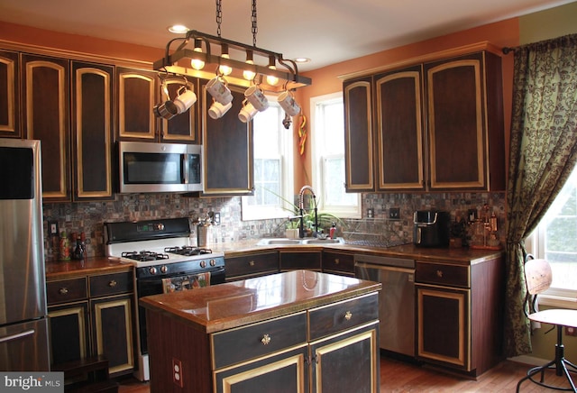
[[[523,312],[525,239],[577,160],[577,34],[517,48],[513,79],[504,326],[508,357],[532,351]]]

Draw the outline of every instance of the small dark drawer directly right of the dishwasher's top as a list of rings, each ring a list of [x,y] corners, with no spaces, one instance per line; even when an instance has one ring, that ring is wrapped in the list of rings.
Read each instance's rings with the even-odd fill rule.
[[[470,267],[417,261],[415,281],[426,284],[471,288]]]

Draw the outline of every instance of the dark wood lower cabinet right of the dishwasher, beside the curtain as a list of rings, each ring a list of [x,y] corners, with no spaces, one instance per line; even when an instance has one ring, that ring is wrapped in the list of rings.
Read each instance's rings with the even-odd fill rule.
[[[503,257],[417,260],[417,359],[477,377],[503,360]]]

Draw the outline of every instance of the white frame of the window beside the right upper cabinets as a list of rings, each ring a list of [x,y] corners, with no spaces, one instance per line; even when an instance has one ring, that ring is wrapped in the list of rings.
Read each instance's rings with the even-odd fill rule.
[[[336,215],[339,218],[362,218],[362,194],[356,194],[356,205],[355,206],[343,206],[343,205],[326,205],[325,198],[325,181],[324,181],[324,168],[325,168],[325,157],[334,158],[340,156],[340,154],[322,154],[320,146],[323,146],[322,139],[324,137],[325,128],[323,127],[320,120],[317,119],[318,105],[323,103],[330,103],[331,101],[340,100],[343,103],[343,92],[330,93],[323,96],[314,96],[310,98],[310,131],[312,132],[311,141],[311,171],[312,171],[312,187],[315,189],[316,193],[320,196],[317,200],[318,211],[322,213],[329,213],[331,215]],[[343,119],[344,124],[344,119]],[[344,134],[343,134],[344,140]],[[344,151],[343,151],[344,160]],[[343,174],[344,183],[344,174]]]

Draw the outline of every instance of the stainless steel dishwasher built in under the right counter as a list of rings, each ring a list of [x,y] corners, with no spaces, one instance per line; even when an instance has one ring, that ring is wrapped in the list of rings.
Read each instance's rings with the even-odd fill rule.
[[[379,293],[380,348],[415,355],[415,260],[354,255],[358,279],[382,284]]]

